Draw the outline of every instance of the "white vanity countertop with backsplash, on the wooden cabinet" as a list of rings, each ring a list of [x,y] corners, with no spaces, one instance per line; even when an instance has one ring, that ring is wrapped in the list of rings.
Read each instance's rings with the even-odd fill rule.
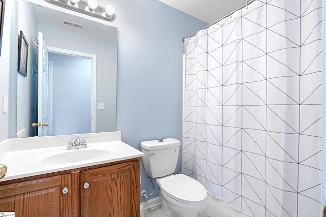
[[[112,135],[115,137],[111,139],[108,138]],[[19,139],[9,139],[8,141],[6,140],[5,142],[0,143],[0,164],[6,165],[8,171],[7,175],[4,178],[0,179],[0,182],[16,178],[40,175],[68,169],[75,169],[86,166],[93,166],[97,164],[116,162],[144,156],[143,152],[121,141],[121,132],[101,133],[100,136],[104,136],[104,139],[96,139],[96,134],[92,134],[92,137],[94,137],[93,142],[89,143],[87,148],[73,150],[67,150],[67,145],[62,145],[62,142],[58,142],[59,144],[57,145],[52,142],[53,140],[58,140],[58,138],[61,138],[62,136],[46,137],[49,140],[52,140],[51,142],[49,142],[49,144],[51,143],[51,145],[44,145],[46,147],[41,148],[39,147],[40,144],[38,144],[38,141],[36,141],[37,137],[34,137],[36,140],[33,140],[33,138],[26,138],[29,139],[28,144],[26,144],[26,139],[21,139],[22,144],[19,144],[19,141],[11,141]],[[105,137],[107,137],[107,139],[105,139]],[[119,139],[119,137],[120,140],[115,140]],[[91,140],[92,139],[90,139],[90,141]],[[42,138],[42,142],[44,141],[46,141],[46,139]],[[33,148],[33,142],[35,142],[35,145],[38,148]],[[65,141],[64,143],[67,143],[67,141]],[[28,148],[17,148],[20,146]],[[88,153],[90,153],[89,151],[92,150],[94,150],[94,152],[96,153],[101,153],[102,156],[91,159],[92,156],[89,156]],[[61,156],[60,154],[62,153],[64,153],[63,156],[59,157],[58,160],[56,158],[55,161],[51,161],[50,163],[46,161],[48,157],[52,157],[56,154],[58,154],[58,156]],[[68,155],[72,153],[74,154],[74,156],[77,157],[79,157],[78,155],[80,153],[80,156],[85,156],[85,158],[88,159],[84,160],[84,157],[81,157],[82,160],[79,159],[76,162],[62,163],[65,161],[70,161],[69,159],[67,159],[67,156],[65,156],[66,153],[68,153]]]

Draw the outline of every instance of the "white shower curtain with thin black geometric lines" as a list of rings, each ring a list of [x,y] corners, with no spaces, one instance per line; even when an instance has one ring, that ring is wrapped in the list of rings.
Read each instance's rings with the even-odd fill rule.
[[[256,0],[185,40],[182,173],[251,216],[321,216],[321,0]]]

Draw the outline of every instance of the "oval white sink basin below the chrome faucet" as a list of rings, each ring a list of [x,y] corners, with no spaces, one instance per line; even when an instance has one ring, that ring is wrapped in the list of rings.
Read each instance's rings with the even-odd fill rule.
[[[97,158],[102,158],[110,154],[110,151],[103,149],[74,149],[65,150],[62,153],[51,155],[42,160],[43,164],[67,164],[79,161],[88,161]]]

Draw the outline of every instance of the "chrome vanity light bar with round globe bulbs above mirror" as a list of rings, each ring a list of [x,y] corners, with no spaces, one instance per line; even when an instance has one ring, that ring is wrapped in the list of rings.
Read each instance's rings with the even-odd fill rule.
[[[45,2],[87,14],[102,20],[113,22],[116,19],[115,9],[112,5],[99,6],[97,0],[44,0]]]

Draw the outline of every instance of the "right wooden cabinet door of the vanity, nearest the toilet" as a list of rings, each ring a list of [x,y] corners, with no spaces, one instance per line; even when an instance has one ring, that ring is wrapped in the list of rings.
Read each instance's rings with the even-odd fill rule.
[[[139,164],[137,159],[81,172],[80,216],[140,216]]]

